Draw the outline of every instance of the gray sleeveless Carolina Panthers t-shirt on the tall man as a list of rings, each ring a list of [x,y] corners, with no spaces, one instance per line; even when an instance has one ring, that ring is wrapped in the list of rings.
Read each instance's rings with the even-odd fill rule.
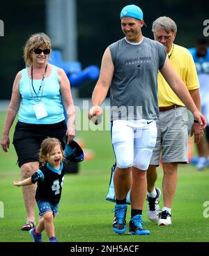
[[[164,66],[164,46],[144,37],[139,45],[125,38],[109,45],[114,63],[111,81],[111,121],[157,119],[157,73]]]

